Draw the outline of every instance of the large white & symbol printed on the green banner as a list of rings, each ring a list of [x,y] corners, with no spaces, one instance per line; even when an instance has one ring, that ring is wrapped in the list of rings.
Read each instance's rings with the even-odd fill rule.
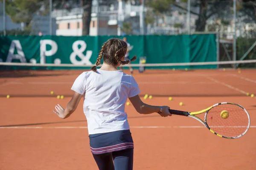
[[[81,45],[80,48],[78,48],[78,45]],[[86,51],[86,55],[83,54],[83,52],[86,49],[86,43],[83,40],[75,41],[72,45],[73,52],[70,54],[70,61],[75,65],[92,65],[90,62],[90,57],[93,54],[93,51]],[[81,59],[81,61],[76,60],[76,56]]]

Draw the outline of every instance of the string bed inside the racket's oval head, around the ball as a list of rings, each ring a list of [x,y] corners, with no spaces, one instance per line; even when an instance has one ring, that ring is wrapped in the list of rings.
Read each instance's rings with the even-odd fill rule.
[[[221,117],[222,111],[228,111],[227,118]],[[213,107],[208,111],[205,121],[215,133],[227,137],[243,134],[249,125],[249,118],[244,109],[232,104]]]

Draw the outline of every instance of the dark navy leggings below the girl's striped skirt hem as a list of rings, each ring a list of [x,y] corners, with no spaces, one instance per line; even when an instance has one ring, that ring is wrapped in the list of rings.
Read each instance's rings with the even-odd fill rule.
[[[134,149],[94,155],[99,170],[132,170]]]

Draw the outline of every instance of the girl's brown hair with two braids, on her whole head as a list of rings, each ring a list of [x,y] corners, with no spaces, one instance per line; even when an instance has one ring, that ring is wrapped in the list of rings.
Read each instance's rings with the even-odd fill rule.
[[[118,38],[111,38],[107,42],[102,45],[102,48],[99,52],[99,56],[95,62],[95,65],[91,68],[92,71],[96,72],[96,67],[100,64],[100,61],[103,57],[103,62],[108,65],[118,65],[121,63],[122,65],[129,64],[131,61],[137,59],[134,56],[131,60],[122,61],[120,58],[124,57],[127,52],[127,43]]]

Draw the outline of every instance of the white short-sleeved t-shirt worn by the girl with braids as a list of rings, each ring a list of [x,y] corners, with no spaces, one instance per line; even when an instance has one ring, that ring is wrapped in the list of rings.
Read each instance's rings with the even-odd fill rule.
[[[89,134],[128,130],[125,112],[128,97],[140,94],[134,77],[122,71],[85,71],[76,78],[72,90],[84,94],[84,114]]]

